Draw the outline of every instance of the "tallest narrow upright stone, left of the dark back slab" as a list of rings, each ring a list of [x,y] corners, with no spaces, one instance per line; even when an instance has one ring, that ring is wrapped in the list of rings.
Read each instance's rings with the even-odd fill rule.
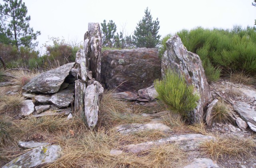
[[[88,60],[87,68],[92,71],[92,77],[100,82],[100,52],[101,32],[99,23],[88,23],[88,32],[84,34],[84,52]]]

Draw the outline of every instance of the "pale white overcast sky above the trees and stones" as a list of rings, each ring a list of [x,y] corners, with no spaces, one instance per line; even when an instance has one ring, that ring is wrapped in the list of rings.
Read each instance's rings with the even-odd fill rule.
[[[1,4],[3,3],[0,0]],[[119,32],[134,32],[146,7],[160,21],[159,34],[192,29],[254,26],[256,7],[253,0],[22,0],[31,16],[30,26],[40,30],[39,46],[50,37],[82,41],[88,22],[113,20]]]

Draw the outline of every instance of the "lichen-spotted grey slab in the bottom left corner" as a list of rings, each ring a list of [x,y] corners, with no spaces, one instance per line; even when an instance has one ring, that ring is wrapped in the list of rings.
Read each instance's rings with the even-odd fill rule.
[[[21,166],[22,168],[40,167],[42,164],[52,163],[60,158],[60,151],[59,145],[40,146],[18,156],[2,168],[10,168],[11,166]]]

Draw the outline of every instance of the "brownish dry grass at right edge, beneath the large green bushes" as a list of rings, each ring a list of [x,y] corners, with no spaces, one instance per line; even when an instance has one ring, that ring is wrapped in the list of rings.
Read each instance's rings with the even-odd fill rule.
[[[236,84],[252,86],[256,83],[256,78],[246,74],[245,72],[235,72],[230,74],[230,81]]]

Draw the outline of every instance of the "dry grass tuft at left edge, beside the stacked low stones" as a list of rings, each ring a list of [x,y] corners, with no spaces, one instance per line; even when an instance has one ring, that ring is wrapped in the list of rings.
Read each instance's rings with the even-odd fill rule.
[[[0,96],[0,114],[17,116],[24,106],[24,97],[21,95]]]

